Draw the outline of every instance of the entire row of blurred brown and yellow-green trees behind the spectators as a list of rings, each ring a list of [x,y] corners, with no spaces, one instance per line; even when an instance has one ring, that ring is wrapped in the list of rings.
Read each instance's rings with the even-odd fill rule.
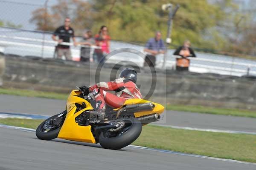
[[[193,46],[207,49],[225,49],[229,46],[223,23],[232,26],[232,0],[58,0],[47,12],[37,9],[31,22],[39,30],[54,30],[63,24],[64,17],[70,16],[76,33],[92,29],[94,33],[106,25],[111,38],[144,44],[155,31],[166,37],[168,14],[161,10],[164,3],[180,4],[174,19],[173,44],[180,45],[189,39]],[[47,26],[44,18],[47,18]]]

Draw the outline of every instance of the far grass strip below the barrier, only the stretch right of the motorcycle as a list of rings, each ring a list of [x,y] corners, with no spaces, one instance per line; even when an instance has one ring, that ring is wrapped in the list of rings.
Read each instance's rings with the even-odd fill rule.
[[[197,113],[208,113],[215,115],[233,115],[256,118],[256,111],[243,110],[243,109],[227,109],[227,108],[214,108],[204,106],[191,106],[191,105],[167,105],[168,110],[177,110],[183,112],[197,112]]]

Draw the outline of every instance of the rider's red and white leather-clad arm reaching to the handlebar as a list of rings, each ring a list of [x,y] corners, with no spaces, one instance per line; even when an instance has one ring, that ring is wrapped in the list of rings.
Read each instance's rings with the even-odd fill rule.
[[[90,92],[93,91],[93,89],[99,88],[105,91],[115,91],[117,89],[120,89],[124,86],[124,82],[122,78],[116,79],[115,81],[109,81],[109,82],[100,82],[90,87]]]

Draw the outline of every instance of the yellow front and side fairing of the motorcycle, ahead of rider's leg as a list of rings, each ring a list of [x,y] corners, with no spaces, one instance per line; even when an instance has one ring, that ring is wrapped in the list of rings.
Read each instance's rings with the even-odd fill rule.
[[[88,101],[76,96],[79,95],[79,93],[79,91],[74,90],[70,93],[70,96],[68,97],[67,115],[58,134],[58,138],[95,144],[96,141],[91,132],[91,126],[79,126],[78,123],[76,123],[75,121],[76,116],[80,115],[85,110],[93,109]],[[83,102],[86,104],[86,108],[75,113],[75,103],[82,104]]]

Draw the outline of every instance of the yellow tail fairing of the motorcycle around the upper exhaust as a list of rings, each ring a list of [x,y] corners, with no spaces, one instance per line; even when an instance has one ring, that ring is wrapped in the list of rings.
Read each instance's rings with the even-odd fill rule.
[[[143,104],[143,103],[153,103],[155,105],[155,107],[154,107],[153,110],[150,110],[150,111],[135,112],[134,116],[136,118],[140,117],[140,116],[143,116],[143,115],[149,115],[149,114],[152,114],[152,113],[157,113],[157,114],[160,115],[164,111],[163,105],[158,104],[158,103],[154,103],[154,102],[151,102],[151,101],[139,99],[139,98],[128,99],[127,101],[125,101],[124,105],[128,105],[128,104]],[[118,109],[120,109],[120,108],[118,108]],[[118,109],[114,109],[114,110],[118,110]]]

